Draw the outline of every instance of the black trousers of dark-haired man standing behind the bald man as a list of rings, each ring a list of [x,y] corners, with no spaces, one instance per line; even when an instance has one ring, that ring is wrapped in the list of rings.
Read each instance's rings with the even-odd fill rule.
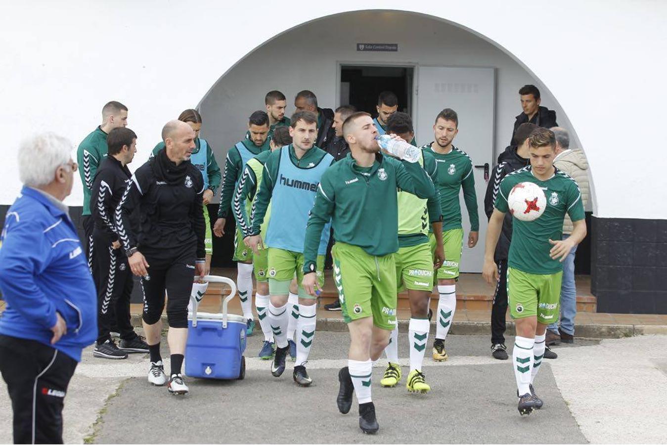
[[[97,288],[97,344],[111,339],[111,328],[123,340],[137,336],[131,324],[129,301],[132,295],[132,272],[127,257],[112,249],[107,240],[93,237],[93,281]]]

